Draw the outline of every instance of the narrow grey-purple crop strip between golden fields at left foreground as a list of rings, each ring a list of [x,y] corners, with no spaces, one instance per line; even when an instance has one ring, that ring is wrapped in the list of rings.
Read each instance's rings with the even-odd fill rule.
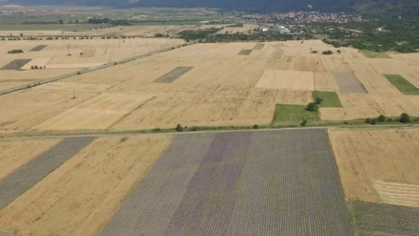
[[[93,140],[94,138],[90,137],[66,138],[0,179],[0,209],[6,207]]]

